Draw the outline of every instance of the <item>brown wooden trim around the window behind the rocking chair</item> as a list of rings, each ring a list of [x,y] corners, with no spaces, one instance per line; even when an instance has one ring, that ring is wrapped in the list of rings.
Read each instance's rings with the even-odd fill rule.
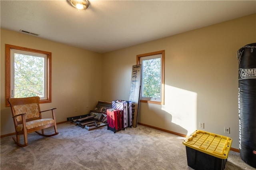
[[[5,45],[5,53],[6,53],[6,65],[5,65],[5,105],[6,107],[10,107],[8,103],[8,99],[11,97],[10,95],[10,77],[11,77],[11,69],[10,69],[10,50],[18,49],[22,51],[30,51],[34,53],[40,53],[47,55],[47,63],[48,63],[48,96],[45,100],[40,100],[40,103],[51,103],[52,102],[52,53],[48,51],[41,51],[38,49],[31,49],[26,47],[20,47],[16,45]]]

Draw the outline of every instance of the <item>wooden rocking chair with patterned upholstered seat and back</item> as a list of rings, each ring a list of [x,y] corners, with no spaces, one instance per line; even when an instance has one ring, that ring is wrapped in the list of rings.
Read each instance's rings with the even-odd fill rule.
[[[41,113],[46,111],[40,111],[39,101],[40,97],[38,96],[8,99],[16,132],[16,138],[13,137],[13,140],[20,147],[28,145],[28,133],[30,132],[36,132],[37,134],[46,137],[59,134],[54,113],[56,108],[46,110],[52,111],[52,119],[42,119]],[[54,127],[55,133],[44,134],[44,129],[52,126]],[[41,132],[38,132],[38,130]],[[20,143],[19,135],[22,134],[24,135],[24,144]]]

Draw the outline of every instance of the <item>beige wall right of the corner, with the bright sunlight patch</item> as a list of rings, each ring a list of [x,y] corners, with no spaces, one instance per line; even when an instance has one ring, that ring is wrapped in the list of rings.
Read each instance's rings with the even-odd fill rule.
[[[138,122],[181,134],[201,122],[201,130],[230,136],[238,148],[236,52],[253,42],[256,14],[104,53],[102,99],[128,100],[136,55],[165,50],[165,105],[141,103]]]

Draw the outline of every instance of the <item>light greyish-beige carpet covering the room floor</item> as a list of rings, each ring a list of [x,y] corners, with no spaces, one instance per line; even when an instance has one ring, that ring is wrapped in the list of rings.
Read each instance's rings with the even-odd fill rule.
[[[20,148],[12,136],[1,138],[1,170],[192,170],[183,137],[138,125],[115,134],[101,127],[86,130],[57,125],[52,137],[28,134]],[[49,129],[52,130],[52,129]],[[230,151],[225,170],[255,170]]]

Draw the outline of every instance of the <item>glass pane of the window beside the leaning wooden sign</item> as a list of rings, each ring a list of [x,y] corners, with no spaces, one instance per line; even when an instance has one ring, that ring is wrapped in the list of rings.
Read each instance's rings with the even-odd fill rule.
[[[161,58],[142,59],[142,97],[161,97]]]

